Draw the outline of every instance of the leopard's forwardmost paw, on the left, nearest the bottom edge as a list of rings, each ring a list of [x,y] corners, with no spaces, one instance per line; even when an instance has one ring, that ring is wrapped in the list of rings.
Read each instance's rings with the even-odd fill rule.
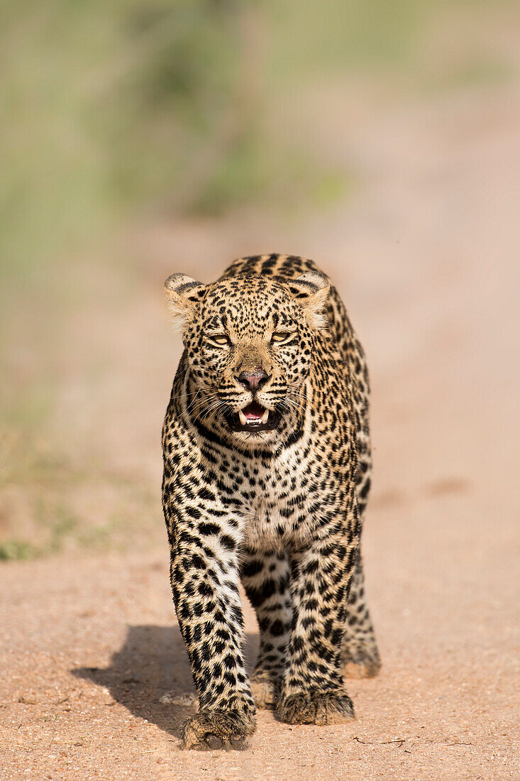
[[[255,716],[247,711],[198,711],[184,724],[180,747],[240,750],[248,747],[247,738],[255,729]]]

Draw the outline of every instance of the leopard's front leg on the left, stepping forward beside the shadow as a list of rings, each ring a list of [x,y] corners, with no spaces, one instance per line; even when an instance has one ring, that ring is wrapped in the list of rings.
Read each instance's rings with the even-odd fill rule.
[[[181,746],[242,747],[255,731],[255,702],[242,651],[237,529],[198,508],[173,507],[173,601],[199,699]]]

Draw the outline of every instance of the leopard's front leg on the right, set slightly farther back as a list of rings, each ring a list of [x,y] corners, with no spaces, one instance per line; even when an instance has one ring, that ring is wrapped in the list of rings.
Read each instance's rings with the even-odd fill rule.
[[[290,724],[337,724],[354,718],[344,689],[342,646],[348,590],[359,544],[357,505],[319,526],[291,556],[293,627],[278,718]]]

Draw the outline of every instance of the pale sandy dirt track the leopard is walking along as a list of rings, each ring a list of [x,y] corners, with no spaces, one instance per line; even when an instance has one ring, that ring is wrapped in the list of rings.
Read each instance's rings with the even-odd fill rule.
[[[138,249],[153,258],[139,272],[143,298],[114,323],[124,370],[91,414],[114,459],[141,464],[158,491],[179,343],[155,280],[177,270],[209,280],[252,251],[318,259],[372,368],[364,547],[382,672],[351,681],[357,719],[345,726],[261,712],[248,751],[180,751],[191,708],[160,698],[190,691],[191,676],[157,504],[143,550],[2,565],[2,779],[520,777],[520,90],[441,96],[384,119],[362,108],[353,123],[352,95],[337,98],[330,123],[317,92],[315,132],[358,167],[358,195],[303,227],[244,216],[151,228]]]

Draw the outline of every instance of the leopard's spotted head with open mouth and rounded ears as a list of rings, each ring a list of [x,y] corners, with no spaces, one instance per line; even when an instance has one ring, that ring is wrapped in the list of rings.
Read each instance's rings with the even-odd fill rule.
[[[301,388],[324,324],[326,276],[232,276],[204,285],[166,280],[182,320],[191,414],[234,441],[275,441],[301,409]]]

